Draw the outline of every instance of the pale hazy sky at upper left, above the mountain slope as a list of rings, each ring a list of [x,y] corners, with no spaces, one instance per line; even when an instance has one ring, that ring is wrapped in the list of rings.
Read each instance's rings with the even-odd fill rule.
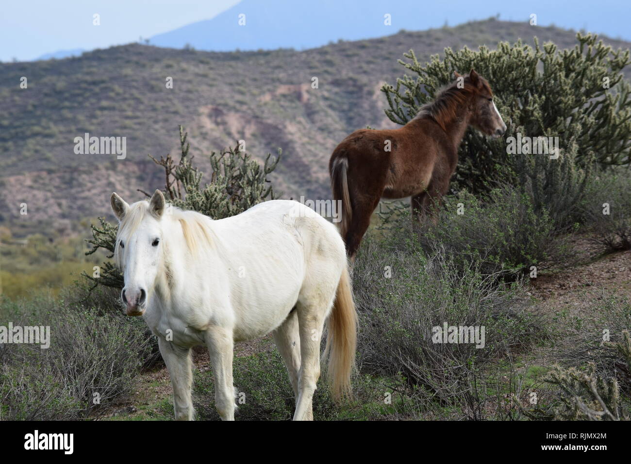
[[[239,0],[2,0],[0,60],[135,42],[208,20]],[[92,15],[101,25],[92,25]]]

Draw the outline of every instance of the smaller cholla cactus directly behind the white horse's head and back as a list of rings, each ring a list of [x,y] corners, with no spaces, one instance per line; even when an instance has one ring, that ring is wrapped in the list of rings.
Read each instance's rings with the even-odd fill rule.
[[[247,153],[239,151],[239,147],[228,148],[220,153],[211,153],[210,163],[213,169],[211,181],[203,185],[203,173],[192,164],[193,157],[189,155],[190,144],[187,133],[180,128],[180,160],[175,163],[170,154],[166,158],[157,160],[150,158],[165,170],[165,198],[174,206],[184,210],[199,211],[213,219],[222,219],[237,215],[251,206],[277,198],[271,182],[270,174],[280,161],[268,153],[261,166]],[[144,192],[143,192],[144,193]],[[149,194],[145,193],[147,196]],[[99,248],[109,252],[108,258],[114,256],[114,243],[117,226],[112,225],[105,218],[98,218],[100,225],[91,225],[92,239],[87,242],[92,246],[86,254],[92,254]],[[122,288],[124,285],[121,272],[110,261],[103,263],[100,277],[94,278],[86,273],[83,276],[91,280],[93,285]]]

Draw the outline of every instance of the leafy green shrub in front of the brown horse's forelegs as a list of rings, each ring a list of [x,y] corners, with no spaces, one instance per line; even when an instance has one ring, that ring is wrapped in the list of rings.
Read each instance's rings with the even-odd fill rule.
[[[536,211],[521,189],[498,187],[485,199],[466,191],[445,196],[436,222],[421,222],[412,236],[407,211],[395,218],[389,214],[382,217],[393,242],[415,243],[428,256],[444,251],[463,270],[476,263],[483,275],[514,278],[532,266],[540,270],[570,261],[565,241],[553,238],[553,218],[545,208]]]

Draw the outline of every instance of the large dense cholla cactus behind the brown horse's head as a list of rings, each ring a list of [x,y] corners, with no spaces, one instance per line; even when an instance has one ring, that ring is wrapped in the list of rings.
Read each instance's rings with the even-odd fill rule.
[[[413,51],[399,60],[415,78],[404,76],[396,85],[384,85],[389,109],[387,116],[405,124],[419,107],[436,96],[441,86],[454,80],[454,71],[475,69],[493,88],[497,107],[508,124],[505,137],[558,137],[562,150],[575,144],[576,161],[586,166],[592,157],[603,165],[622,165],[631,161],[631,85],[623,80],[622,69],[630,62],[629,51],[613,51],[596,35],[577,34],[578,44],[558,51],[546,43],[534,48],[500,42],[496,50],[467,47],[454,52],[447,48],[444,59],[438,55],[424,65]],[[498,179],[498,168],[505,179],[517,183],[519,166],[507,155],[502,140],[468,131],[459,152],[456,186],[473,193],[487,191],[487,182]],[[511,175],[511,172],[512,175]]]

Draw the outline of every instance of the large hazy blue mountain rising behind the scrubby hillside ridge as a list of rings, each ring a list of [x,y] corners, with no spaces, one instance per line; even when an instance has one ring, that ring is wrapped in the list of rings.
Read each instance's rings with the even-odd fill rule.
[[[447,16],[451,25],[484,20],[498,11],[502,20],[529,24],[534,13],[537,25],[554,23],[631,39],[631,3],[615,0],[531,0],[527,4],[505,0],[243,0],[210,20],[156,35],[151,44],[179,49],[189,45],[207,51],[301,50],[338,39],[370,39],[401,29],[442,27]]]

